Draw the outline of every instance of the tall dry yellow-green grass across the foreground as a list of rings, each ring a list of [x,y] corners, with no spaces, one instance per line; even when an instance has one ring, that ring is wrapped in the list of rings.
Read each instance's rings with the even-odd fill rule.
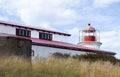
[[[120,77],[120,66],[110,62],[72,58],[36,58],[31,65],[18,57],[0,58],[0,77]]]

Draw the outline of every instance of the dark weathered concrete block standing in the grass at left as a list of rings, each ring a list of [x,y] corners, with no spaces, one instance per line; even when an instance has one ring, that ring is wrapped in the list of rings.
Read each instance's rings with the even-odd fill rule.
[[[0,57],[22,56],[31,58],[32,41],[19,37],[0,37]]]

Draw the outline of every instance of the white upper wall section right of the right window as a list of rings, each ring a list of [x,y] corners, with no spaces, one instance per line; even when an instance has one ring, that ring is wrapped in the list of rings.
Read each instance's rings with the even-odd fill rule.
[[[53,41],[68,42],[69,36],[53,34],[52,39]]]

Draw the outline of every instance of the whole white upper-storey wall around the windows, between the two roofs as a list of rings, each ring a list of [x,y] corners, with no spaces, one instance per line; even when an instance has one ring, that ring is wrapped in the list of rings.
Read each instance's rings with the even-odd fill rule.
[[[0,24],[0,33],[16,35],[16,27]],[[39,38],[39,31],[31,30],[31,37]],[[52,34],[53,41],[68,42],[69,36]]]

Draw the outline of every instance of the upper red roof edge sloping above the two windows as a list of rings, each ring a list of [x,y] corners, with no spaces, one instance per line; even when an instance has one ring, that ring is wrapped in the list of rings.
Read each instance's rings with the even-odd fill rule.
[[[0,21],[0,24],[4,24],[6,26],[9,25],[9,26],[15,26],[15,27],[26,28],[26,29],[31,29],[31,30],[37,30],[37,31],[44,31],[44,32],[60,34],[60,35],[64,35],[64,36],[71,36],[70,34],[67,34],[67,33],[62,33],[62,32],[42,29],[42,28],[38,28],[38,27],[30,27],[30,26],[20,25],[20,24],[6,22],[6,21]]]

